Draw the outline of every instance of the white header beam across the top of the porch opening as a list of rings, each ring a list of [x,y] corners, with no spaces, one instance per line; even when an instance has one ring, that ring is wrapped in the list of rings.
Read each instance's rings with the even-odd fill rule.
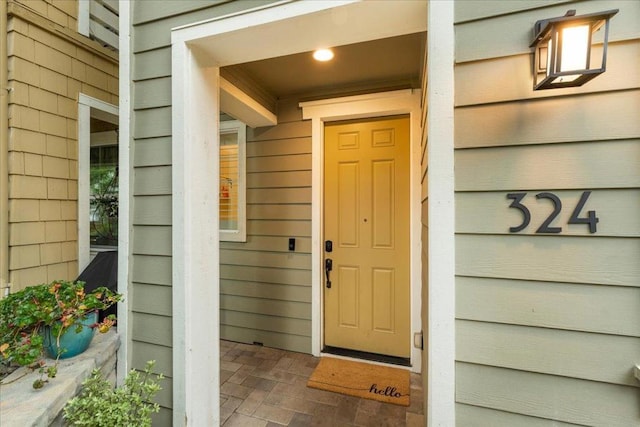
[[[427,2],[415,0],[282,1],[182,26],[172,42],[197,46],[203,66],[224,67],[423,32],[426,14]]]

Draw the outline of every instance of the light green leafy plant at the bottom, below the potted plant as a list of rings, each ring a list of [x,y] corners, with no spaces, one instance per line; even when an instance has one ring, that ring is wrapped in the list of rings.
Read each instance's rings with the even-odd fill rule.
[[[115,389],[99,369],[94,370],[82,383],[80,394],[65,405],[64,418],[72,426],[151,426],[151,414],[160,411],[160,405],[151,400],[164,378],[152,373],[154,365],[151,360],[143,372],[132,370],[124,385]]]

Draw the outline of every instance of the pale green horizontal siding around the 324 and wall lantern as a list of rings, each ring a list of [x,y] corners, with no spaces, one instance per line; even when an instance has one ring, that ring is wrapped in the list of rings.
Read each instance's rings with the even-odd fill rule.
[[[607,72],[533,92],[532,25],[567,3],[620,8]],[[456,2],[459,426],[640,423],[639,13],[638,2]],[[568,224],[584,191],[596,233]],[[531,212],[517,234],[511,192],[528,193]],[[536,233],[553,211],[540,192],[562,201],[559,234]]]

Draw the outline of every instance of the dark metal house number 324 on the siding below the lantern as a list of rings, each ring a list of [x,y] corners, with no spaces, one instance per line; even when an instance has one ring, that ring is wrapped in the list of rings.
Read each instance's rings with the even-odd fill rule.
[[[507,193],[507,199],[513,200],[509,207],[518,209],[520,212],[522,212],[522,224],[515,227],[509,227],[510,233],[517,233],[524,230],[531,222],[531,212],[529,212],[529,209],[523,203],[526,195],[527,193]],[[585,203],[587,203],[589,195],[591,195],[591,191],[585,191],[584,193],[582,193],[578,204],[573,210],[573,213],[571,213],[569,224],[588,224],[589,232],[595,233],[596,224],[599,221],[598,217],[596,216],[596,211],[588,211],[586,217],[580,216],[580,212],[582,211]],[[553,212],[551,212],[547,219],[543,221],[542,225],[538,227],[536,233],[560,233],[562,231],[562,227],[550,226],[553,220],[556,219],[556,217],[560,215],[560,212],[562,211],[562,201],[560,200],[560,197],[556,196],[553,193],[538,193],[536,194],[536,199],[549,199],[551,200],[551,203],[553,203]]]

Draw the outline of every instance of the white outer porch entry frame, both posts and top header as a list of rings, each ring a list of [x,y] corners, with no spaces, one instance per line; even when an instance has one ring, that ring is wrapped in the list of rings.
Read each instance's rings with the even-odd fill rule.
[[[399,13],[399,9],[408,13]],[[357,26],[340,25],[342,19],[334,19],[348,18],[351,13],[359,18]],[[381,20],[384,26],[380,25]],[[425,295],[423,306],[425,342],[427,337],[429,342],[423,356],[425,371],[428,371],[423,378],[425,413],[428,425],[455,425],[454,2],[355,0],[282,0],[171,30],[172,233],[175,237],[172,241],[172,409],[175,425],[185,425],[185,420],[189,420],[190,425],[216,425],[220,417],[220,390],[211,386],[218,383],[220,376],[219,348],[209,345],[219,338],[217,218],[199,215],[201,206],[196,209],[203,195],[211,199],[208,207],[214,215],[217,209],[216,194],[211,186],[218,179],[217,157],[214,152],[213,162],[202,159],[210,154],[211,145],[217,147],[219,143],[218,123],[203,121],[198,113],[202,107],[214,114],[219,111],[219,67],[299,53],[317,45],[356,43],[420,32],[427,27],[429,89],[423,108],[426,109],[428,103],[429,126],[424,138],[428,135],[426,150],[430,166],[427,172],[429,203],[425,203],[423,209],[428,210],[429,219],[426,212],[424,215],[430,228],[425,245],[429,250],[426,253],[425,247],[424,256],[431,262],[428,279],[425,277],[428,285],[424,285],[428,286],[425,293],[429,297]],[[258,38],[271,43],[257,44]],[[128,34],[122,44],[129,45]],[[121,67],[126,68],[129,56],[123,57],[126,59],[121,61]],[[128,112],[131,94],[124,90],[123,83],[121,80],[121,107],[127,106],[124,110]],[[128,136],[129,123],[122,121],[121,124]],[[185,185],[198,182],[194,173],[203,178],[202,185]],[[205,182],[208,185],[204,185]],[[422,195],[418,200],[420,198]],[[203,271],[203,266],[211,268]],[[315,266],[314,270],[317,269]],[[194,277],[200,280],[195,281]],[[203,280],[209,280],[212,286],[195,285]],[[210,341],[202,339],[203,330],[208,331]],[[313,336],[319,335],[313,332]],[[317,345],[319,347],[319,342]]]

